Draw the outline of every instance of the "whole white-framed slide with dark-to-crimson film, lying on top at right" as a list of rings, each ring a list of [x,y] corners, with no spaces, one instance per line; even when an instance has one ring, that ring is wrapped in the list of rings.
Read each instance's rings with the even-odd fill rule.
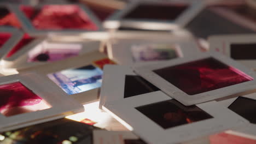
[[[254,71],[217,52],[141,64],[136,73],[184,105],[204,103],[255,89]]]

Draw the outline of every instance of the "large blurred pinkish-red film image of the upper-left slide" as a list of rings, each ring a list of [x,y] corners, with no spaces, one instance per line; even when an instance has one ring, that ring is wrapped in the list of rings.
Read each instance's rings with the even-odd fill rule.
[[[98,29],[78,5],[44,5],[42,8],[22,5],[21,10],[32,25],[40,30]]]

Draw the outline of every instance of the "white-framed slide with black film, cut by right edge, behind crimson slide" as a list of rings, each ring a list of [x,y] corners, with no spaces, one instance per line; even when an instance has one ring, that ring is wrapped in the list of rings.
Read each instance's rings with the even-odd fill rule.
[[[231,57],[237,62],[256,69],[256,46],[255,34],[240,35],[214,35],[208,39],[211,50],[218,51]]]

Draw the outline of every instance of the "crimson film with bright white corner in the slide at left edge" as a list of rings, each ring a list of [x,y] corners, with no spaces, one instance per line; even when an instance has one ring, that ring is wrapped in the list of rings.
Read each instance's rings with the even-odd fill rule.
[[[0,86],[0,113],[13,116],[20,113],[49,109],[51,106],[20,82]]]

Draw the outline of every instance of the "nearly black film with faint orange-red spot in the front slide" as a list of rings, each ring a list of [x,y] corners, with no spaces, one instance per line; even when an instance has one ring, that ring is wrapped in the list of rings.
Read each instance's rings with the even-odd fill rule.
[[[174,99],[139,106],[135,109],[164,129],[213,118],[196,105],[185,106]]]

